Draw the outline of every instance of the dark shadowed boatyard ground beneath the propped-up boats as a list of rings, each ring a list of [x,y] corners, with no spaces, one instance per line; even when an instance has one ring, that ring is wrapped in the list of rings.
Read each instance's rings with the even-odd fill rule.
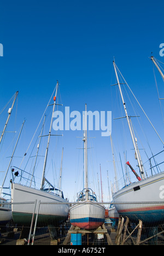
[[[71,226],[68,223],[69,226]],[[116,236],[118,235],[118,230],[112,228],[112,223],[105,225],[108,234],[110,236],[112,245],[117,245],[116,242]],[[126,233],[126,238],[132,232],[134,228],[128,229]],[[149,231],[152,230],[151,228],[143,228],[142,229],[142,235],[141,240],[143,241],[145,237],[147,237],[147,234]],[[28,241],[27,239],[20,239],[21,237],[21,229],[10,227],[8,230],[4,230],[4,232],[1,231],[1,238],[0,242],[1,245],[27,245]],[[57,240],[52,240],[50,236],[50,232],[48,228],[37,228],[36,235],[34,237],[33,245],[57,245],[57,246],[63,246],[65,248],[65,245],[63,245],[64,241],[66,240],[66,237],[68,235],[68,230],[61,230],[63,231],[63,234],[61,232],[60,238]],[[147,233],[147,234],[146,234]],[[121,239],[124,234],[124,230],[122,229]],[[138,230],[134,230],[133,234],[130,238],[128,238],[127,241],[125,241],[124,245],[134,245],[136,243]],[[163,233],[162,233],[163,234]],[[142,245],[164,245],[164,236],[162,234],[159,234],[158,236],[145,241],[142,243]],[[30,245],[32,244],[32,239],[30,241]],[[71,245],[71,237],[68,240],[67,245]],[[82,234],[82,243],[83,246],[108,246],[108,241],[106,235],[102,233],[102,237],[98,238],[97,235],[93,233],[85,233]],[[120,245],[120,243],[119,243]]]

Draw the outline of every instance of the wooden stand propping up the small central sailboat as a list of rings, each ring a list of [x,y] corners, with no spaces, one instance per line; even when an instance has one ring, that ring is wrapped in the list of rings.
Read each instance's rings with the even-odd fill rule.
[[[102,226],[99,226],[97,229],[93,230],[80,229],[78,227],[74,227],[73,225],[71,225],[71,228],[67,232],[65,241],[63,241],[63,245],[67,245],[67,243],[71,240],[71,234],[87,235],[87,245],[89,245],[89,234],[104,234],[107,237],[108,245],[113,245],[113,242],[108,234],[108,230],[106,229],[106,226],[104,224]]]

